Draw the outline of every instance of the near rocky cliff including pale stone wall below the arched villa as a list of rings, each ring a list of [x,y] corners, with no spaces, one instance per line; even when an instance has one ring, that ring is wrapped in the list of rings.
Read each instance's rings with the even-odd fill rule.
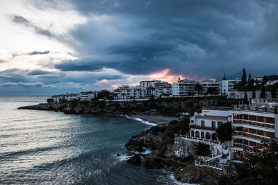
[[[179,137],[176,138],[172,134],[181,130],[187,132],[188,130],[184,127],[188,127],[188,123],[188,119],[183,119],[171,121],[165,125],[157,125],[132,136],[125,146],[128,150],[139,152],[134,157],[141,155],[144,158],[145,166],[173,170],[174,177],[181,182],[199,183],[204,178],[210,182],[220,172],[211,168],[195,166],[195,158],[197,158],[193,152],[195,143],[184,141]],[[147,155],[140,153],[144,148],[151,150],[151,152]]]

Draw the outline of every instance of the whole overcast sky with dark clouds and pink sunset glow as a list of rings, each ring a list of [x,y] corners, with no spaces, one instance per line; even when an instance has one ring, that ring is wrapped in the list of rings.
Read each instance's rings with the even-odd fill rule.
[[[278,74],[278,1],[1,0],[0,94]]]

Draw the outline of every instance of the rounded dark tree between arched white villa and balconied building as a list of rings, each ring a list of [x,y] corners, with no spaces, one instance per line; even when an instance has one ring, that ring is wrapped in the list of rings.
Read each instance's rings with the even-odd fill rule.
[[[218,125],[218,128],[216,130],[219,141],[231,141],[231,134],[233,132],[234,130],[231,127],[230,121]]]

